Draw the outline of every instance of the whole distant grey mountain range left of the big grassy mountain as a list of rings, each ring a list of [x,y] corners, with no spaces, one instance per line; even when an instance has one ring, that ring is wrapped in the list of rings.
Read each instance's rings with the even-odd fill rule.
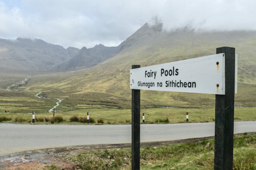
[[[41,74],[88,68],[111,57],[120,47],[99,44],[79,50],[36,38],[0,39],[0,69],[5,73]]]

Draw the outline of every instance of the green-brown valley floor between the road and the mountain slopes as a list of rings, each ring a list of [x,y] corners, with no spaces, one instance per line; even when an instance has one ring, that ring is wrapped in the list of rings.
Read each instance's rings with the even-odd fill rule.
[[[22,81],[19,82],[24,85]],[[17,87],[19,87],[18,84],[16,83]],[[240,87],[241,91],[251,90],[251,92],[247,98],[242,94],[237,96],[235,121],[256,120],[255,88],[254,86]],[[87,112],[90,115],[90,123],[131,123],[130,99],[119,99],[117,96],[98,92],[76,94],[62,91],[41,92],[42,89],[31,92],[23,86],[18,89],[18,91],[10,91],[6,88],[0,90],[0,122],[30,124],[32,122],[31,113],[35,111],[36,124],[84,124],[87,123]],[[143,95],[150,95],[152,98],[148,99],[145,96],[141,98],[141,123],[142,113],[145,114],[145,123],[186,122],[186,112],[189,113],[189,122],[215,121],[215,104],[207,98],[208,96],[173,93],[171,97],[163,96],[165,102],[153,104],[151,100],[163,100],[159,98],[162,94],[151,91],[142,91],[142,93],[144,93]],[[170,103],[168,104],[168,102]],[[53,119],[51,112],[54,107],[56,107],[55,119]],[[9,111],[9,114],[5,114],[5,110]]]

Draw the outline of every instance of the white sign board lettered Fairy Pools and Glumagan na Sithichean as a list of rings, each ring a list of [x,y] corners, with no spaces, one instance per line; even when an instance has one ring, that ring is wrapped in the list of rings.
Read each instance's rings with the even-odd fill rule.
[[[237,93],[237,55],[235,62],[235,93]],[[225,54],[131,69],[130,88],[224,95]]]

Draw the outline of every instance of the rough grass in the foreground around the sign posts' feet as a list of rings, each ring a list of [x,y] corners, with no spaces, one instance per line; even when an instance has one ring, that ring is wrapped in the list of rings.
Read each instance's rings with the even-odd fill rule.
[[[131,149],[85,151],[72,161],[79,169],[131,169]],[[140,167],[145,170],[210,170],[213,164],[213,139],[140,149]],[[233,169],[256,169],[256,134],[235,135]]]

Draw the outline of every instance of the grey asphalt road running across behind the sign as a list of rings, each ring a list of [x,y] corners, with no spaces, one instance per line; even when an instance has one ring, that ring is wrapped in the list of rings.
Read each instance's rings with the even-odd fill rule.
[[[235,122],[234,133],[256,132],[256,121]],[[214,123],[142,124],[141,142],[214,136]],[[0,156],[44,148],[131,143],[131,125],[0,124]]]

